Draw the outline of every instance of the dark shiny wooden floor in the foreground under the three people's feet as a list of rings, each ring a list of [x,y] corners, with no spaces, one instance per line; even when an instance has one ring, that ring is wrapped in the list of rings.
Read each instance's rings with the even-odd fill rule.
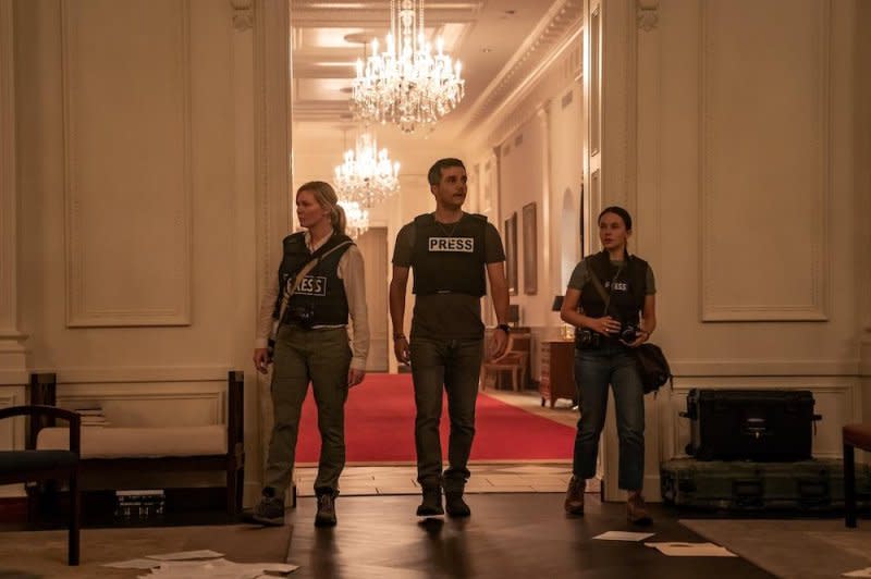
[[[586,515],[566,518],[561,494],[475,494],[465,520],[420,519],[417,496],[340,496],[334,529],[317,529],[315,500],[303,497],[287,510],[294,526],[287,560],[300,565],[297,578],[773,577],[737,557],[666,557],[643,543],[593,540],[639,529],[626,522],[624,505],[587,496]],[[676,514],[651,510],[647,529],[657,534],[649,541],[704,541]]]

